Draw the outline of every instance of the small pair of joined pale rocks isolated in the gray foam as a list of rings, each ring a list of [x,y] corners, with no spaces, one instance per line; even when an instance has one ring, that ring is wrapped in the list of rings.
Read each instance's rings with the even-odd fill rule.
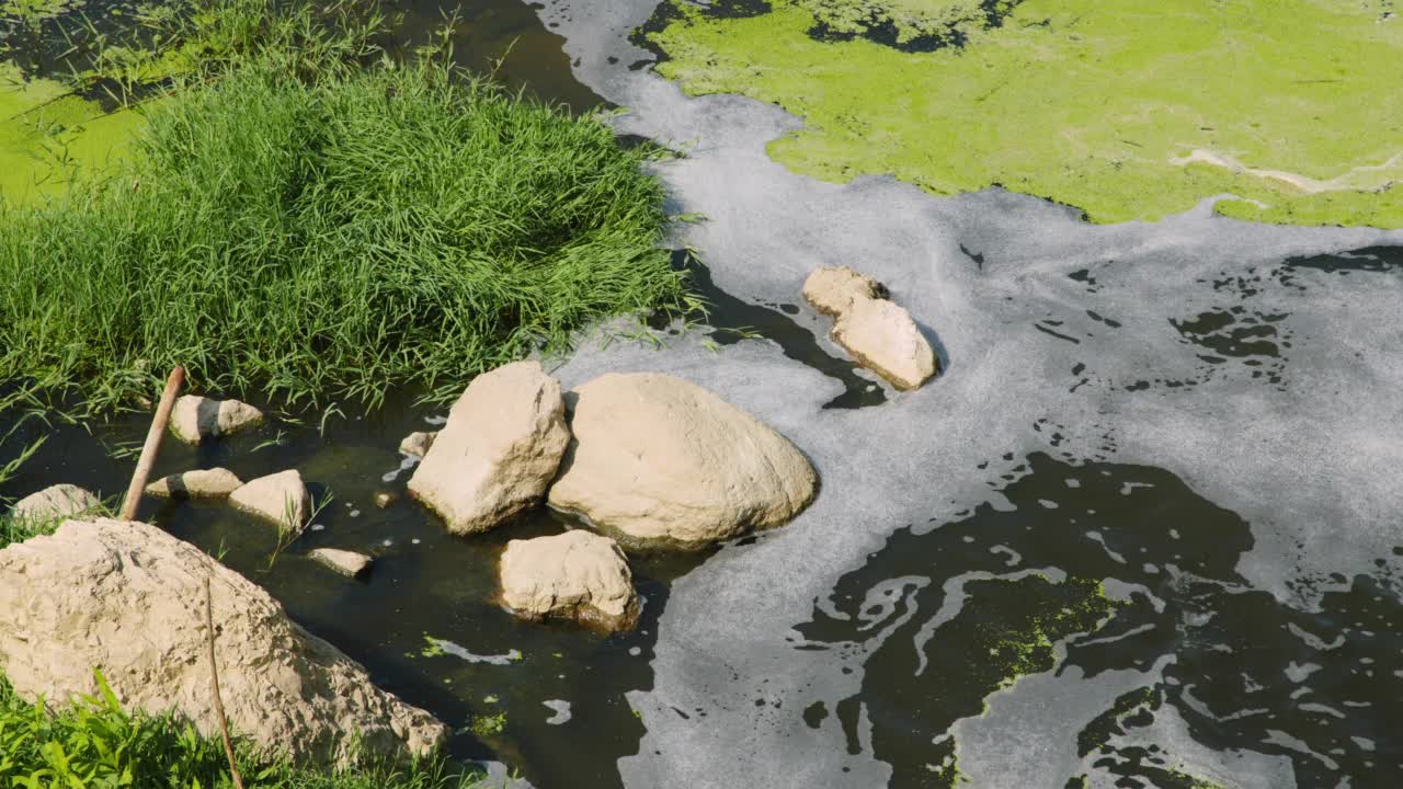
[[[847,267],[819,268],[804,281],[804,299],[836,319],[835,343],[897,389],[919,389],[936,375],[934,350],[881,282]]]

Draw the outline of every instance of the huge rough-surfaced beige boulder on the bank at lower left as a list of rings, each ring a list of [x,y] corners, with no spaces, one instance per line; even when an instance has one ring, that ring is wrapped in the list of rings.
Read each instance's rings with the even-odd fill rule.
[[[448,729],[376,688],[272,597],[161,529],[69,521],[0,550],[0,670],[25,699],[95,694],[98,668],[129,709],[219,731],[210,695],[205,580],[230,727],[267,754],[347,762],[436,748]]]

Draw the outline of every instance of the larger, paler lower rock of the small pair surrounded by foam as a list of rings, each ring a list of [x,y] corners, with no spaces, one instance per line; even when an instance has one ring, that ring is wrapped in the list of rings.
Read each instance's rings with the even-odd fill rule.
[[[833,323],[833,341],[898,389],[916,389],[936,375],[936,352],[899,305],[856,299]]]

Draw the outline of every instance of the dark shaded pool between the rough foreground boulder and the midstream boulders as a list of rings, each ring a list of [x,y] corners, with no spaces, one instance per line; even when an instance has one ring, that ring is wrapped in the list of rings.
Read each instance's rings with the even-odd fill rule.
[[[267,588],[296,622],[363,664],[377,685],[439,716],[457,730],[453,757],[497,758],[543,788],[622,786],[616,762],[637,752],[645,731],[624,694],[652,688],[650,664],[669,585],[709,553],[631,557],[644,598],[631,633],[606,637],[516,621],[492,602],[501,550],[511,539],[560,533],[575,524],[540,510],[485,535],[449,535],[405,496],[412,465],[396,446],[408,432],[436,430],[410,402],[401,396],[375,414],[333,420],[325,435],[311,417],[306,427],[269,420],[250,434],[201,446],[164,442],[153,479],[192,468],[223,466],[244,480],[299,469],[324,507],[289,546],[279,549],[272,526],[217,503],[147,497],[137,517],[222,557]],[[0,431],[13,418],[0,416]],[[41,434],[51,438],[0,486],[0,497],[70,482],[115,501],[135,458],[114,459],[108,451],[140,442],[147,424],[147,416],[136,414],[88,434],[25,423],[14,444],[6,444],[7,453]],[[382,510],[376,493],[397,498]],[[363,552],[376,563],[366,578],[352,581],[307,559],[314,548]],[[499,734],[471,733],[476,719],[499,713]]]

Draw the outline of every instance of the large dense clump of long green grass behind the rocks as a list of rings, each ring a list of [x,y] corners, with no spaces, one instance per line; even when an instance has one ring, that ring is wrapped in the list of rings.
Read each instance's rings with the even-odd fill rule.
[[[128,163],[4,206],[0,380],[102,407],[180,364],[289,402],[449,397],[592,317],[680,303],[654,152],[434,63],[297,72],[264,58],[161,100]]]

